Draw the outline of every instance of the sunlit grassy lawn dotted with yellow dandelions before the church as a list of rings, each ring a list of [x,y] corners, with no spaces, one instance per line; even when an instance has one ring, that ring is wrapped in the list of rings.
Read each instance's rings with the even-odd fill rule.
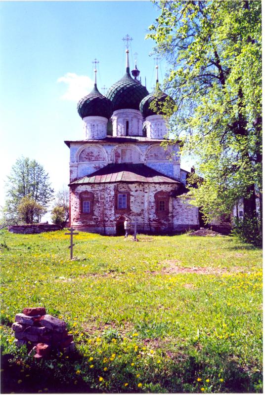
[[[80,233],[70,261],[64,231],[1,231],[3,392],[263,391],[261,250],[138,238]],[[35,306],[67,322],[76,353],[37,363],[16,349],[10,324]]]

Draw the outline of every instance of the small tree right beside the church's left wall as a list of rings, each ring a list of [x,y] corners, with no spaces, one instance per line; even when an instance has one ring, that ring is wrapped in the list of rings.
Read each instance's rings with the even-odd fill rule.
[[[65,226],[69,219],[69,189],[64,185],[56,194],[51,210],[53,224]]]

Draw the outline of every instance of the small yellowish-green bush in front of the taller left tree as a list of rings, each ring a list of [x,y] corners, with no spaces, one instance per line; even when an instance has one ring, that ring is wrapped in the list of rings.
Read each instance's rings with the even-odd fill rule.
[[[22,222],[34,224],[40,222],[41,216],[45,213],[44,207],[37,203],[32,197],[22,197],[17,211]]]

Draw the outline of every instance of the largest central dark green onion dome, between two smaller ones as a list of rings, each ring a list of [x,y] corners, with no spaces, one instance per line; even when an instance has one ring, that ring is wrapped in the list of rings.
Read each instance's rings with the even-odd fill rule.
[[[146,95],[148,90],[131,77],[128,68],[123,78],[108,89],[106,97],[112,102],[113,111],[126,108],[139,111],[140,101]]]

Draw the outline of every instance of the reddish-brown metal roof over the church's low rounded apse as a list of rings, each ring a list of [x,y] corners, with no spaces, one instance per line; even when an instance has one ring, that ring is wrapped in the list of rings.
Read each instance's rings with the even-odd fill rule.
[[[110,163],[88,176],[71,182],[75,184],[100,184],[109,182],[148,182],[181,184],[174,178],[168,177],[145,164]]]

